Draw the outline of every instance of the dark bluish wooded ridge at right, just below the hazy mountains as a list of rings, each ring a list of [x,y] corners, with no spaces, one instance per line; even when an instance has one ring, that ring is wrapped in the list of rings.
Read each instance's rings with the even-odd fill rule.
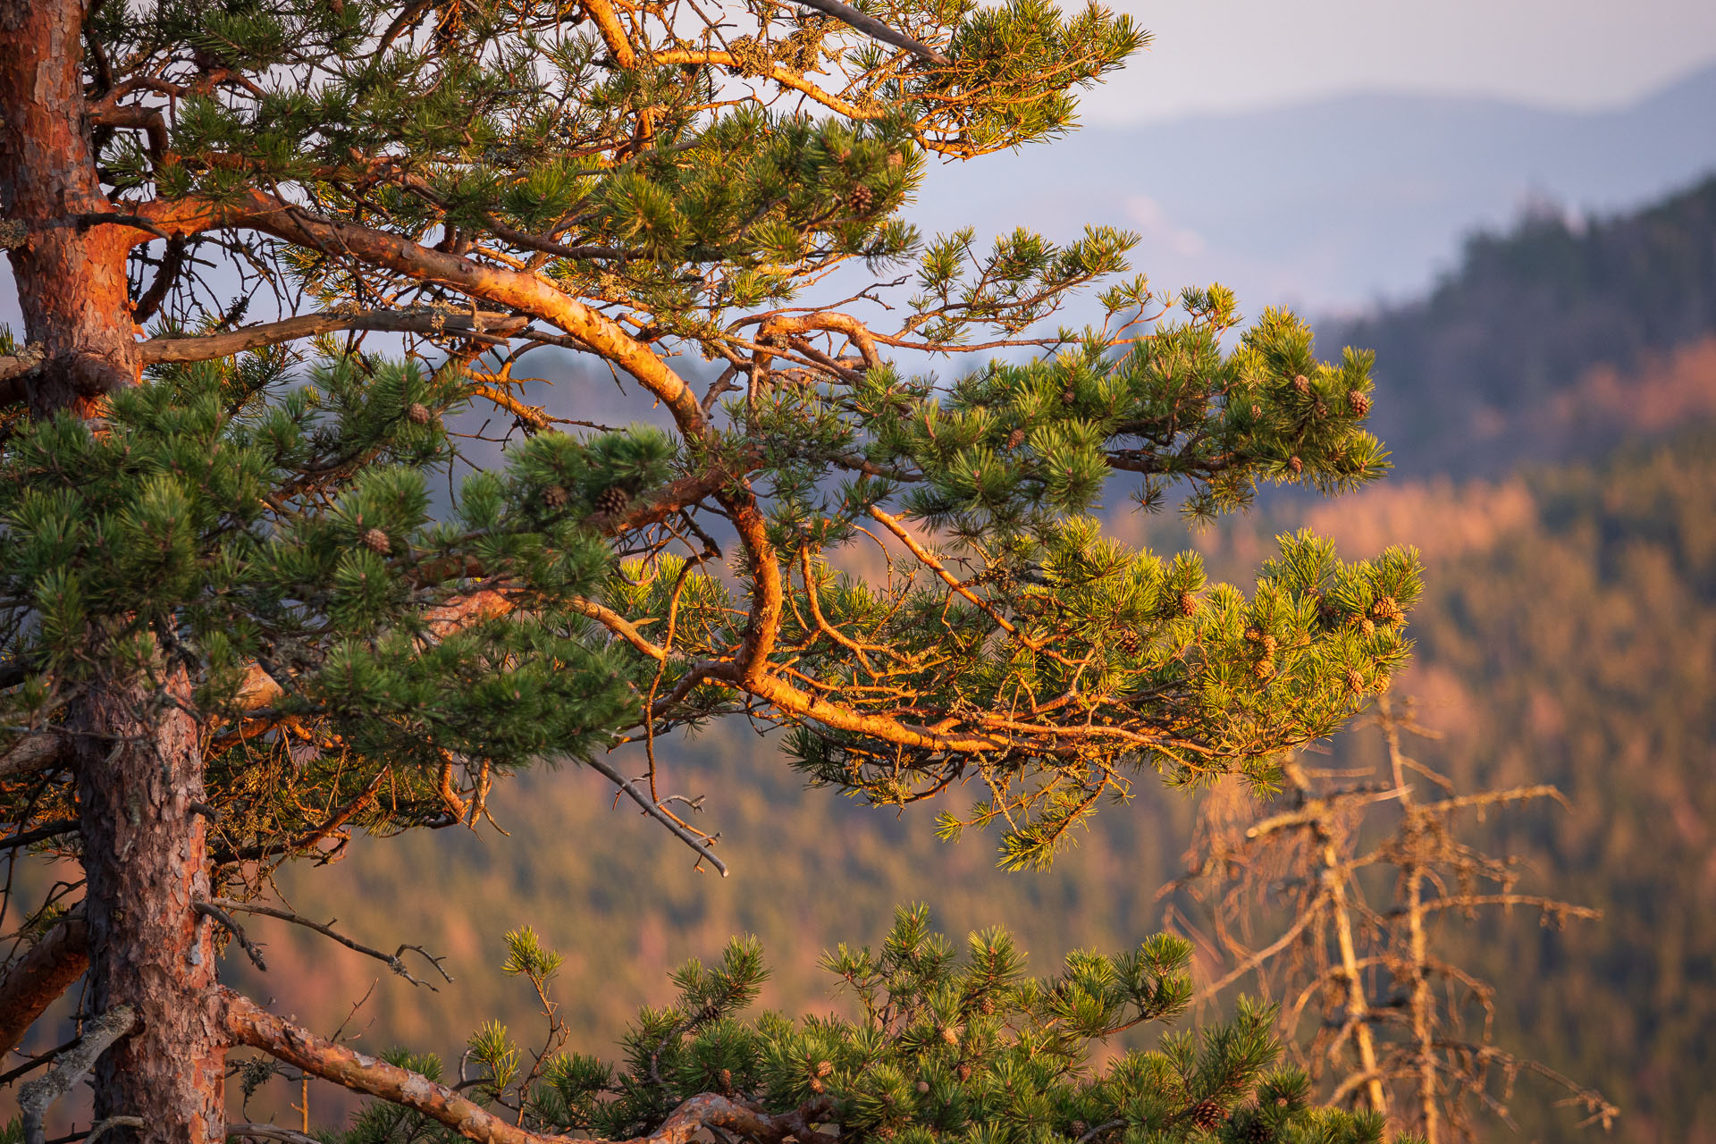
[[[1498,473],[1615,446],[1591,370],[1649,372],[1716,331],[1716,178],[1639,214],[1536,209],[1479,233],[1428,298],[1321,336],[1376,350],[1375,429],[1400,475]],[[1709,412],[1707,405],[1702,412]]]

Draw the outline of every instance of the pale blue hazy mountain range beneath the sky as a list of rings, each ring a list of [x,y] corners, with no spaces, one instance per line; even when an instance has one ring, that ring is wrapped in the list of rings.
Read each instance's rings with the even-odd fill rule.
[[[1716,67],[1618,111],[1356,94],[1246,115],[1081,129],[937,168],[915,220],[1138,230],[1163,286],[1222,281],[1246,312],[1314,314],[1424,290],[1474,228],[1531,199],[1630,209],[1716,168]]]

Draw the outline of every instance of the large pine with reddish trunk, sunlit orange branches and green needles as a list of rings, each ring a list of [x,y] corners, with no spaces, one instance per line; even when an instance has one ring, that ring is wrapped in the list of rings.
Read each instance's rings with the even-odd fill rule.
[[[117,1137],[218,1139],[251,1045],[525,1139],[400,1067],[309,1060],[216,950],[252,948],[235,914],[302,921],[263,900],[275,864],[475,827],[542,758],[719,868],[652,748],[746,715],[873,803],[978,791],[944,834],[1000,823],[1033,866],[1141,772],[1266,786],[1337,731],[1407,653],[1411,552],[1292,537],[1246,595],[1091,513],[1121,480],[1210,516],[1378,477],[1368,355],[1323,364],[1275,310],[1236,336],[1229,292],[1124,280],[1127,233],[985,250],[901,218],[932,158],[1067,130],[1143,43],[1040,0],[0,10],[26,326],[0,346],[0,847],[81,870],[7,914],[0,1045],[81,974],[93,1019],[26,1103],[93,1063]],[[1098,285],[1100,328],[1045,333]],[[561,432],[517,389],[553,350],[671,431]],[[885,357],[995,350],[1035,358]],[[470,405],[520,439],[432,509]],[[647,782],[604,762],[638,739]]]

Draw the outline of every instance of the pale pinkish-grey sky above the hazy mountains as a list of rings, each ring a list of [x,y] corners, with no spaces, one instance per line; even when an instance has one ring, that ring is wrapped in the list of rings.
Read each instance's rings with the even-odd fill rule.
[[[1062,0],[1069,7],[1078,0]],[[1716,62],[1716,0],[1110,0],[1155,45],[1085,122],[1354,91],[1622,106]]]

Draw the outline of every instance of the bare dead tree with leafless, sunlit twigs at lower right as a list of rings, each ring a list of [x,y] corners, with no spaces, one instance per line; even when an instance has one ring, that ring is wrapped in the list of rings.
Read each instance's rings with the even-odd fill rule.
[[[1205,799],[1186,876],[1162,890],[1167,928],[1191,935],[1225,966],[1198,995],[1217,1002],[1246,984],[1280,1003],[1290,1053],[1330,1103],[1376,1110],[1390,1127],[1429,1144],[1476,1139],[1489,1113],[1508,1111],[1522,1077],[1565,1089],[1579,1127],[1618,1115],[1601,1093],[1495,1041],[1496,986],[1448,960],[1443,926],[1479,911],[1536,911],[1544,926],[1601,912],[1520,892],[1520,859],[1488,854],[1469,816],[1553,799],[1553,786],[1462,794],[1402,748],[1402,736],[1436,738],[1407,700],[1381,695],[1378,767],[1285,767],[1275,804],[1234,784]]]

